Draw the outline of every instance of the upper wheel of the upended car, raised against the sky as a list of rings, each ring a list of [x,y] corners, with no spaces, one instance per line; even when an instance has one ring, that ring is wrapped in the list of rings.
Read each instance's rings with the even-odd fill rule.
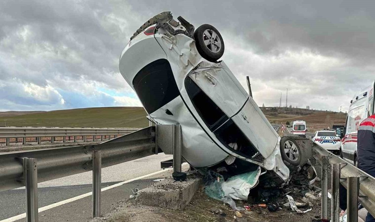
[[[224,40],[219,31],[209,24],[199,26],[194,32],[195,46],[199,54],[210,62],[216,62],[224,54]]]

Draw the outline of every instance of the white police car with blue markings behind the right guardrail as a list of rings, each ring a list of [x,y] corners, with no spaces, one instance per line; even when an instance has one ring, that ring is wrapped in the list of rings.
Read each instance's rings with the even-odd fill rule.
[[[311,141],[335,154],[340,152],[341,140],[336,136],[336,131],[318,130],[315,132]]]

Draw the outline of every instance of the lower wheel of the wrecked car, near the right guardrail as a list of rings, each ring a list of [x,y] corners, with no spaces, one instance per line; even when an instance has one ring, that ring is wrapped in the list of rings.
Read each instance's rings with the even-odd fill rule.
[[[295,140],[291,139],[290,137],[281,138],[280,152],[281,157],[284,161],[288,162],[293,166],[300,165],[302,153],[300,146],[298,146]]]

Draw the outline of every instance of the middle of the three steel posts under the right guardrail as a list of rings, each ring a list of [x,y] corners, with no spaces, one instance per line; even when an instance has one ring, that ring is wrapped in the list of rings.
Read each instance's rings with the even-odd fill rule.
[[[339,192],[339,185],[340,185],[340,164],[334,163],[332,164],[332,181],[331,181],[331,189],[332,189],[332,199],[331,199],[331,222],[339,222],[339,214],[340,214],[340,192]]]

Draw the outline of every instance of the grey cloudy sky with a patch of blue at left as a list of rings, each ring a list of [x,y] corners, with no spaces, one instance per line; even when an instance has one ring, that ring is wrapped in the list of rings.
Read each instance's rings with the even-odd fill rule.
[[[375,1],[233,2],[1,0],[0,111],[141,106],[118,59],[162,11],[215,26],[260,106],[278,106],[280,92],[285,105],[288,88],[293,107],[345,110],[375,79]]]

